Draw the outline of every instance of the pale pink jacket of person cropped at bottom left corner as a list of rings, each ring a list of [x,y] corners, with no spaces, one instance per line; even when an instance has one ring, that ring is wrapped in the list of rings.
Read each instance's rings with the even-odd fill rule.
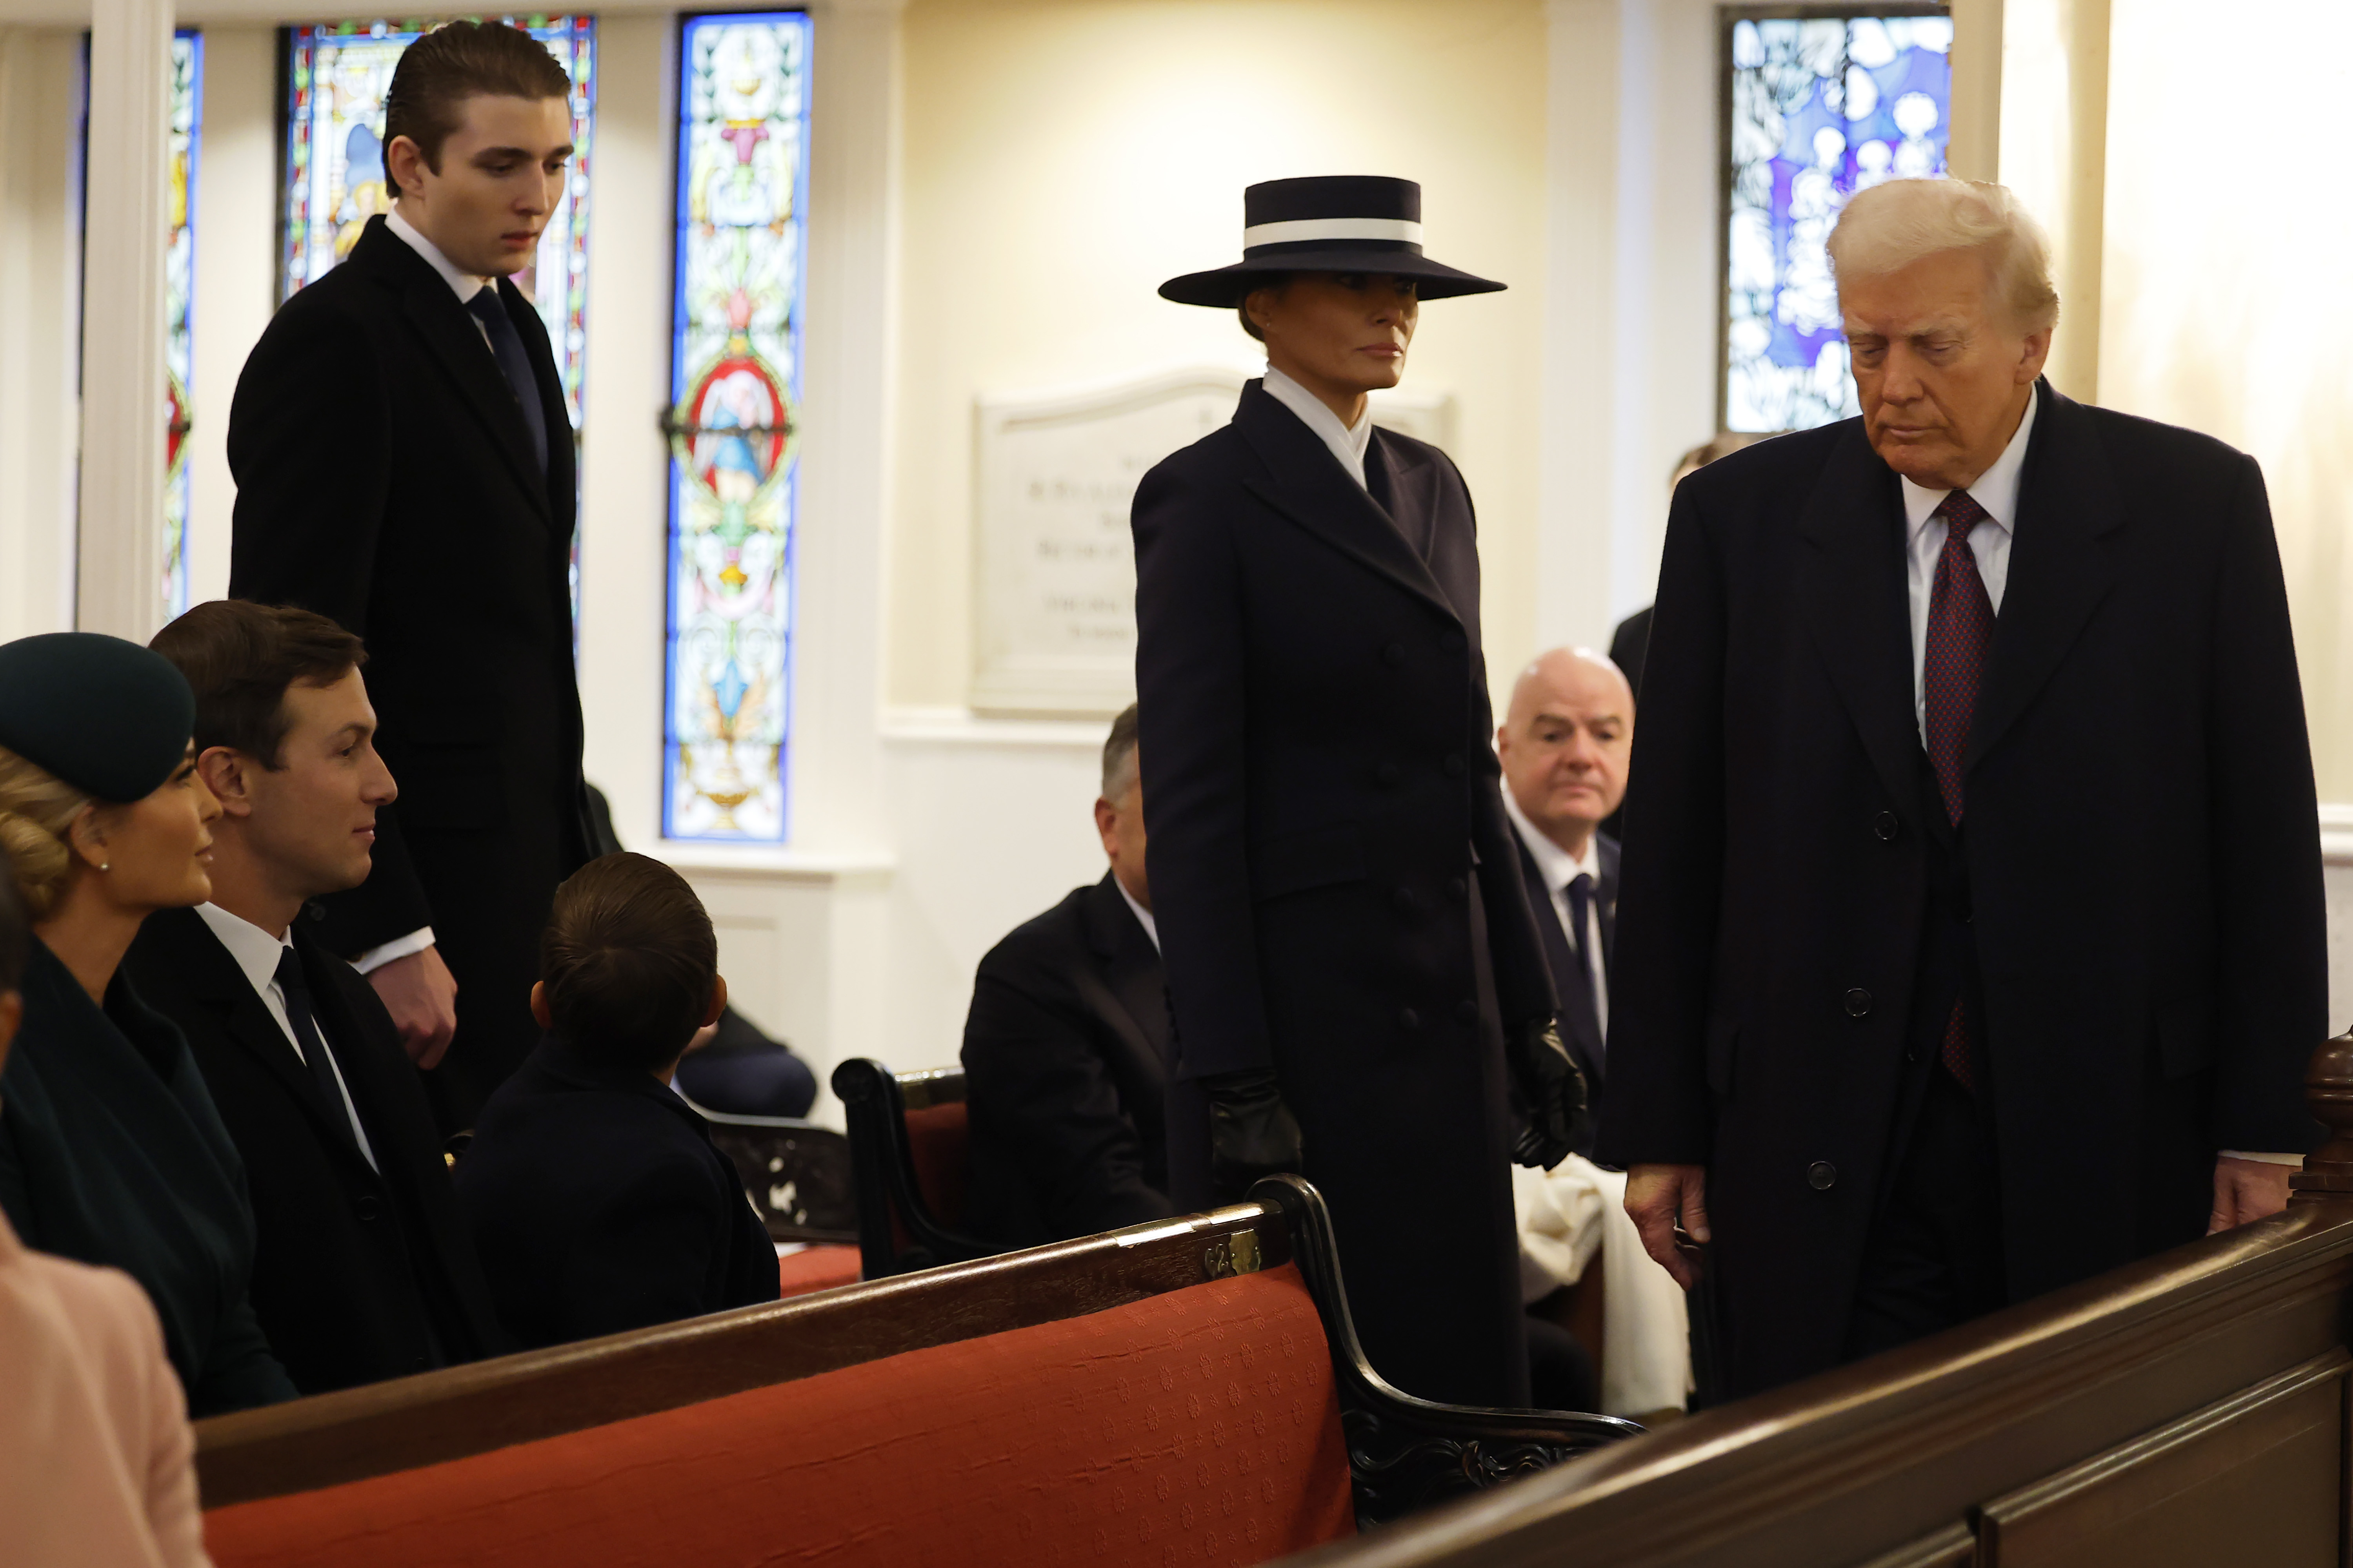
[[[205,1568],[188,1401],[115,1269],[28,1251],[0,1215],[0,1519],[12,1563]]]

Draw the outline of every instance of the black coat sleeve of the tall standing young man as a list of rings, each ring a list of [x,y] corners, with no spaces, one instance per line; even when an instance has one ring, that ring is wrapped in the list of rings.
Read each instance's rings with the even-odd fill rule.
[[[402,461],[393,430],[369,336],[339,308],[296,294],[245,360],[228,409],[238,482],[228,597],[299,604],[367,637],[376,541]],[[398,804],[376,813],[367,882],[325,907],[320,936],[344,957],[433,924]]]

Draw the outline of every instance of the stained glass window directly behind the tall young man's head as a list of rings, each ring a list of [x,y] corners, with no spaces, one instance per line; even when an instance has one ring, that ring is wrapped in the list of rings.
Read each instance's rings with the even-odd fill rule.
[[[565,197],[539,235],[539,256],[515,284],[539,306],[565,378],[572,428],[581,425],[581,362],[588,343],[588,174],[595,125],[595,19],[506,16],[544,42],[572,78],[572,169]],[[322,275],[358,244],[367,219],[393,209],[384,172],[384,94],[393,66],[438,21],[336,21],[292,28],[287,56],[287,190],[278,256],[280,299]]]

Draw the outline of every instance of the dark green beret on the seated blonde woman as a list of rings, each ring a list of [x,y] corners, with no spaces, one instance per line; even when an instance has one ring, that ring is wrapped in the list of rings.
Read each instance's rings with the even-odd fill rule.
[[[146,799],[193,733],[195,693],[162,654],[99,632],[0,644],[0,745],[82,795]]]

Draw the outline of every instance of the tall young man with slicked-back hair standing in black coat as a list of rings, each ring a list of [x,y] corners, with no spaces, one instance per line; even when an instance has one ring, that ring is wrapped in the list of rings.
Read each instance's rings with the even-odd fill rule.
[[[400,188],[261,334],[228,414],[228,590],[367,637],[402,799],[318,936],[369,976],[445,1131],[532,1048],[548,898],[586,860],[572,670],[574,447],[532,261],[572,155],[527,33],[449,24],[400,56]],[[442,1063],[442,1051],[459,1044]]]

